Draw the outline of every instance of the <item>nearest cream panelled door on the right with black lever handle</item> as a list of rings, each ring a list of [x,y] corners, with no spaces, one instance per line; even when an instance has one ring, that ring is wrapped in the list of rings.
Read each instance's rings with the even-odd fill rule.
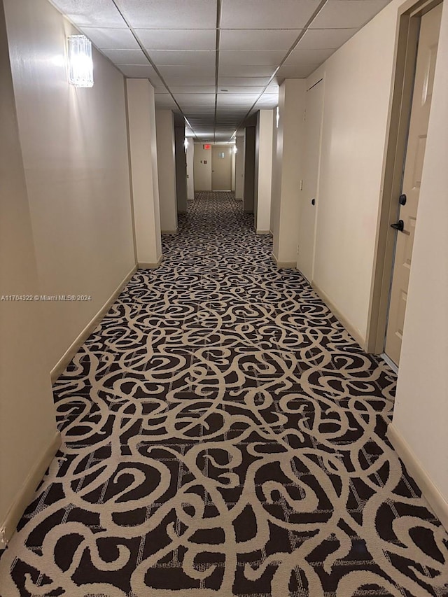
[[[391,300],[386,330],[386,355],[398,365],[405,323],[407,287],[411,270],[412,246],[419,203],[421,171],[425,156],[428,120],[433,97],[433,82],[442,4],[421,17],[419,50],[416,59],[414,94],[403,173],[397,244],[393,264]],[[404,199],[405,197],[405,199]],[[430,289],[428,288],[428,292]]]

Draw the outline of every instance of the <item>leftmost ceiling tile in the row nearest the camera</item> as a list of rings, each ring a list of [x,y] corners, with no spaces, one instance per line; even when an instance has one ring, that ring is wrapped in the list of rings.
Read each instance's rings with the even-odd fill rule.
[[[50,0],[78,27],[126,27],[112,0]]]

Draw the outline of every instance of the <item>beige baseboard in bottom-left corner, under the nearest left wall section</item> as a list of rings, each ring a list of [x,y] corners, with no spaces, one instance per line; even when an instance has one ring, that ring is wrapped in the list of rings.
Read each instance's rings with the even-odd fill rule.
[[[46,449],[43,451],[41,456],[38,458],[34,467],[31,468],[24,484],[18,491],[15,502],[10,507],[8,514],[6,514],[3,524],[0,526],[0,547],[4,548],[8,545],[10,538],[15,533],[15,529],[18,526],[18,522],[22,518],[22,514],[27,509],[29,503],[33,499],[34,493],[38,484],[41,482],[45,470],[48,469],[52,459],[54,458],[57,450],[61,445],[61,434],[57,431],[52,438],[52,441]],[[4,479],[3,479],[4,480]]]

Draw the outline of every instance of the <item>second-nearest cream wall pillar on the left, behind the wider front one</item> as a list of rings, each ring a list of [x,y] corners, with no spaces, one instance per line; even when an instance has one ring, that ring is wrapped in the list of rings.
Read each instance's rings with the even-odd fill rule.
[[[176,157],[172,111],[156,110],[155,127],[157,131],[160,228],[162,232],[176,232]]]

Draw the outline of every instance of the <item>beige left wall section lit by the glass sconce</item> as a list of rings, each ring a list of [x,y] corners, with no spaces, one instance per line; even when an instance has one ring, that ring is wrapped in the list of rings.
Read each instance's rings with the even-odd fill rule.
[[[6,0],[48,371],[134,267],[123,76],[94,50],[95,84],[66,80],[66,34],[46,0]],[[27,59],[24,59],[24,56]]]

